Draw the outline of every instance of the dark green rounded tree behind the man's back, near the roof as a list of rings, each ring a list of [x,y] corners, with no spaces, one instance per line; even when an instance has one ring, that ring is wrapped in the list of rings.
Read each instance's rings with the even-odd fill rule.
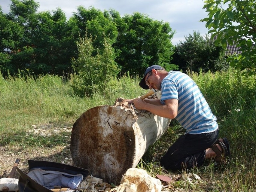
[[[176,46],[172,62],[183,70],[199,72],[201,68],[215,72],[227,67],[224,54],[225,50],[215,46],[208,35],[204,38],[200,32],[194,31]]]

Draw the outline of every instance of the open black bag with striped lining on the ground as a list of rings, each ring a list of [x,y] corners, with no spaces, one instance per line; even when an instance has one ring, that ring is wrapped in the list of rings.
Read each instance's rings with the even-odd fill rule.
[[[87,177],[89,170],[49,161],[28,160],[29,172],[19,168],[19,192],[52,192],[56,186],[77,188]]]

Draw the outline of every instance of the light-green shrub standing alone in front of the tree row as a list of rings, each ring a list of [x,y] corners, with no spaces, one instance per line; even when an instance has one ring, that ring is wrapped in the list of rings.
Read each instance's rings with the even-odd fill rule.
[[[78,59],[73,59],[73,67],[78,73],[73,80],[73,89],[79,96],[90,96],[97,91],[104,91],[105,85],[119,73],[110,39],[104,37],[103,49],[93,46],[92,36],[80,38]],[[97,52],[97,54],[93,54]]]

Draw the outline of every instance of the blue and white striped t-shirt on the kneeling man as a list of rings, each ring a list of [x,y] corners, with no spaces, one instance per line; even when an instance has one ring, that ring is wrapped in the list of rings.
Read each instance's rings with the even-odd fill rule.
[[[176,119],[186,133],[211,133],[218,129],[216,117],[197,84],[186,74],[170,71],[161,83],[161,103],[166,99],[178,99]]]

